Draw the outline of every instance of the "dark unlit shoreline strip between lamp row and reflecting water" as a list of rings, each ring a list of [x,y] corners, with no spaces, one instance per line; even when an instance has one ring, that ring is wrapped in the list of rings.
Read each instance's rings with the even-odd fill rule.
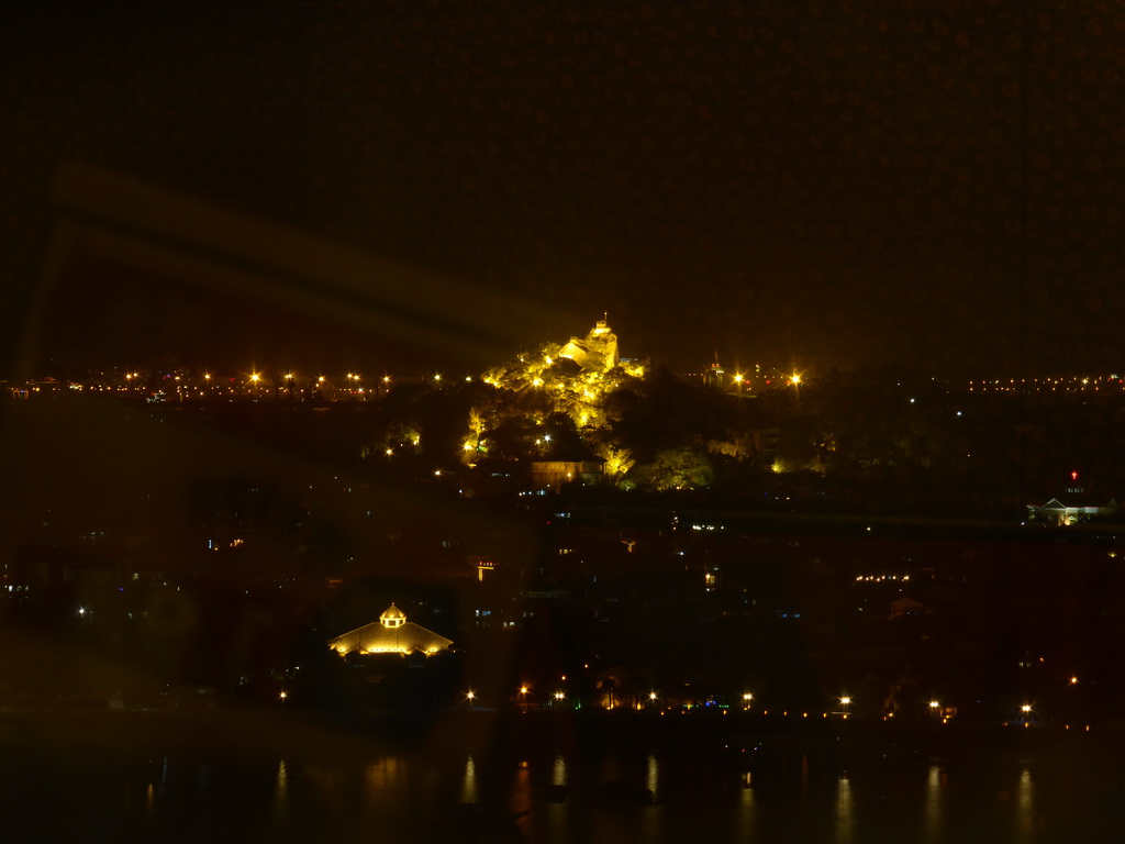
[[[917,762],[1051,756],[1119,755],[1120,725],[925,722],[863,719],[659,717],[612,712],[502,712],[440,710],[333,717],[308,710],[226,709],[162,711],[3,711],[0,746],[62,756],[150,757],[187,755],[214,761],[285,757],[358,762],[396,754],[486,753],[524,757],[603,753],[714,754],[739,744],[765,744],[790,754],[846,748],[860,760],[893,753]]]

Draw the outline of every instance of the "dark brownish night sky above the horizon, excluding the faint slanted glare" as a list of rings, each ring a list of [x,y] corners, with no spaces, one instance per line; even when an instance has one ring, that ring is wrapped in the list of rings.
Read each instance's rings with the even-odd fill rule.
[[[999,374],[1022,333],[1027,374],[1125,368],[1125,10],[1027,0],[1024,39],[1022,9],[25,3],[0,25],[0,315],[80,161],[575,333],[609,311],[677,369],[718,343]]]

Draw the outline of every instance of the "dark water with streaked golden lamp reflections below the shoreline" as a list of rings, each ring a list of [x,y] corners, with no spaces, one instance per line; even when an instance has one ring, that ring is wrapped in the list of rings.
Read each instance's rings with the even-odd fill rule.
[[[0,800],[11,812],[20,800],[34,807],[42,794],[62,834],[100,812],[102,828],[133,830],[115,837],[126,842],[227,841],[223,830],[241,830],[279,843],[345,844],[369,841],[376,828],[408,832],[412,844],[1125,839],[1125,771],[1116,762],[1091,767],[1079,755],[847,773],[794,755],[750,772],[703,753],[587,747],[399,753],[333,764],[158,756],[119,771],[99,779],[44,767],[17,780],[11,769],[15,787]]]

